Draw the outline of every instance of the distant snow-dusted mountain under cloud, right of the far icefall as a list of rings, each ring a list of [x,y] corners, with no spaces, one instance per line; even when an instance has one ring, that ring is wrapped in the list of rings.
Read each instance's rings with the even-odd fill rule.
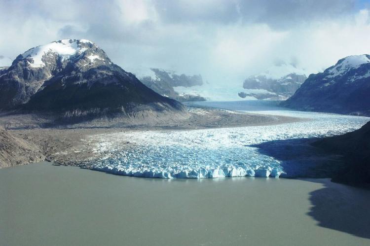
[[[261,90],[260,93],[246,91],[240,92],[239,96],[256,99],[287,99],[296,92],[306,78],[304,70],[299,70],[292,65],[275,66],[244,80],[244,89],[258,89]]]

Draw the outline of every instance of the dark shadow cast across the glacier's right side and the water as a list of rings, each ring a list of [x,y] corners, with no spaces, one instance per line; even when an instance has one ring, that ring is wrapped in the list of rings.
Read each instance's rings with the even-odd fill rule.
[[[333,177],[343,166],[339,156],[330,155],[310,145],[316,139],[289,139],[252,145],[261,154],[281,162],[286,177]],[[370,190],[328,179],[310,179],[324,188],[312,191],[312,205],[307,213],[318,225],[370,239]]]

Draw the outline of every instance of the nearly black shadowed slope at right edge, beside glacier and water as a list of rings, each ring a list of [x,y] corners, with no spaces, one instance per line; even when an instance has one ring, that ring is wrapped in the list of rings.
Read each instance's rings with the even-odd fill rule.
[[[321,139],[312,145],[343,155],[346,165],[334,181],[370,184],[370,122],[357,131]]]

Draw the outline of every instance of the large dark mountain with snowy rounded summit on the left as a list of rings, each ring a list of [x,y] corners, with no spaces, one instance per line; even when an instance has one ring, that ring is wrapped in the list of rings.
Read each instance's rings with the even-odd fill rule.
[[[85,39],[37,46],[0,70],[1,109],[128,113],[144,105],[155,110],[182,108],[113,64]]]

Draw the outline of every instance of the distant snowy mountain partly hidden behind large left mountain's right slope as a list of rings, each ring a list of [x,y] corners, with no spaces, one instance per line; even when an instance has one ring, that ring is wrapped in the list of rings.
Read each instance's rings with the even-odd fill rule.
[[[158,94],[180,102],[205,101],[199,95],[179,93],[174,87],[194,87],[203,84],[201,75],[178,74],[173,70],[136,68],[131,70],[139,80]]]

